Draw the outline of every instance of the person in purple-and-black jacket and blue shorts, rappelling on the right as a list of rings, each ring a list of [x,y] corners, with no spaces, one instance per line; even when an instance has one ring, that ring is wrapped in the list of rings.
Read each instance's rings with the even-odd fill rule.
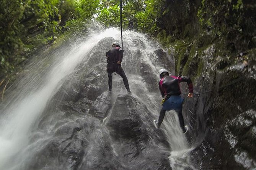
[[[178,113],[179,125],[181,126],[183,133],[186,133],[188,132],[188,126],[184,125],[184,119],[182,115],[182,104],[184,99],[180,96],[181,90],[179,88],[179,83],[186,82],[188,84],[188,97],[191,98],[193,97],[193,84],[191,79],[182,75],[178,77],[169,75],[169,72],[166,69],[160,69],[159,75],[161,78],[159,82],[159,89],[163,97],[163,101],[158,121],[154,120],[154,125],[156,128],[160,128],[161,123],[163,122],[163,118],[165,117],[165,112],[175,110]]]

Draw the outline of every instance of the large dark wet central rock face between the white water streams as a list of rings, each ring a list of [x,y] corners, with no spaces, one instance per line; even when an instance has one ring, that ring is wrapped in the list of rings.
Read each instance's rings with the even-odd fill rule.
[[[108,91],[105,55],[112,41],[101,40],[48,102],[39,128],[49,137],[31,137],[41,146],[24,169],[171,170],[171,148],[143,101]]]

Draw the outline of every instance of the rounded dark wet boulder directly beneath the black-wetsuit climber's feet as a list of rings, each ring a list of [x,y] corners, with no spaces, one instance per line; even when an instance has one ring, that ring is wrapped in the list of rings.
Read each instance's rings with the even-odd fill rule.
[[[151,119],[148,113],[147,107],[133,96],[117,97],[106,120],[116,152],[130,162],[129,169],[170,169],[168,143],[163,140],[163,132],[147,121]]]

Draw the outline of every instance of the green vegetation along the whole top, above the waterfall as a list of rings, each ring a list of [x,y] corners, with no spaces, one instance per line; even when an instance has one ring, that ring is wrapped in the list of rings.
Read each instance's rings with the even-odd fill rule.
[[[95,20],[120,26],[120,0],[2,0],[0,6],[0,80],[56,39],[86,30]],[[157,37],[176,52],[176,73],[202,66],[198,49],[215,44],[239,53],[256,47],[253,0],[123,0],[123,26]],[[197,54],[197,55],[196,55]]]

